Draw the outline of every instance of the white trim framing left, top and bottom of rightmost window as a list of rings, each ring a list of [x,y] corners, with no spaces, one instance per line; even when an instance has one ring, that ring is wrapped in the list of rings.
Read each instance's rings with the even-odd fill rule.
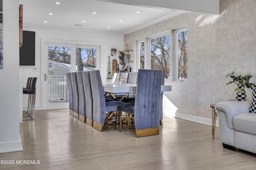
[[[174,74],[172,74],[174,76],[174,78],[172,78],[173,81],[179,81],[179,82],[186,82],[188,79],[181,79],[181,78],[178,78],[178,32],[182,32],[182,31],[187,31],[188,30],[188,27],[187,26],[184,26],[184,27],[180,27],[180,28],[177,28],[177,29],[174,29],[173,32],[174,32],[174,38],[173,38],[173,43],[174,43],[174,64],[172,65],[172,67],[174,68],[173,69],[173,72]]]

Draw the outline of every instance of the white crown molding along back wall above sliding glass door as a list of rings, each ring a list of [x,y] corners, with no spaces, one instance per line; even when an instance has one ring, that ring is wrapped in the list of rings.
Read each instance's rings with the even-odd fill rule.
[[[23,30],[25,29],[51,29],[51,30],[59,30],[59,31],[76,31],[76,32],[87,32],[87,33],[89,32],[89,33],[124,35],[123,32],[119,32],[119,31],[100,31],[100,30],[90,30],[90,29],[42,26],[42,25],[23,25]]]

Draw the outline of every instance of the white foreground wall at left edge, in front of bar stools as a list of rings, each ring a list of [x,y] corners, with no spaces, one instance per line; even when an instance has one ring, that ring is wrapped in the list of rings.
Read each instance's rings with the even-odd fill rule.
[[[22,150],[19,123],[19,1],[3,0],[0,153]]]

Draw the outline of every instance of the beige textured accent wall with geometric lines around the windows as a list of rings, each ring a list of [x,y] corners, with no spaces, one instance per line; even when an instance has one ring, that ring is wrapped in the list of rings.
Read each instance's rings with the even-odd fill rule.
[[[235,98],[236,87],[226,86],[231,79],[224,72],[238,68],[256,71],[255,7],[255,0],[220,0],[219,16],[181,14],[124,35],[124,44],[136,49],[139,39],[187,25],[188,80],[166,81],[172,85],[172,92],[165,92],[165,100],[172,102],[178,113],[210,119],[209,104]],[[133,51],[131,60],[135,61],[135,56]],[[134,68],[135,64],[131,66]],[[246,89],[246,93],[250,100],[251,90]],[[164,109],[171,111],[169,101],[164,102]]]

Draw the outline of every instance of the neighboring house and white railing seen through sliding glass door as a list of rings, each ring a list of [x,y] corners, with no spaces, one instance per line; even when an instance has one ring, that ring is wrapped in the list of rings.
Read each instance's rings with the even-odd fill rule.
[[[84,65],[84,71],[96,70],[95,67]],[[76,66],[77,71],[77,66]],[[68,102],[67,73],[70,64],[48,61],[48,102]]]

